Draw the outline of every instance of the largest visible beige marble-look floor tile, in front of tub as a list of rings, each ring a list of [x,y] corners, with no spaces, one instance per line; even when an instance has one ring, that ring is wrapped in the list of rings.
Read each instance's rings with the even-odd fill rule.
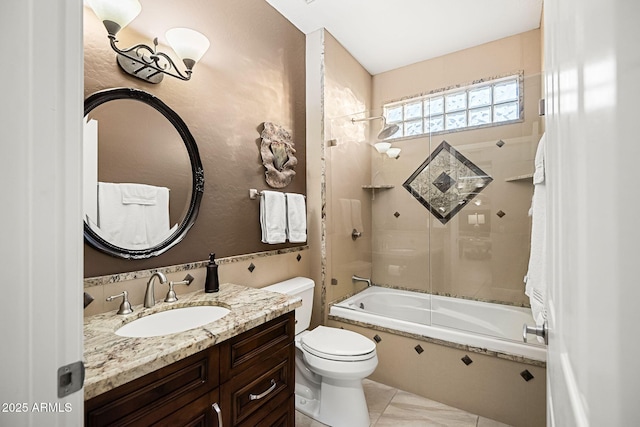
[[[476,427],[477,421],[477,415],[400,390],[375,425]]]

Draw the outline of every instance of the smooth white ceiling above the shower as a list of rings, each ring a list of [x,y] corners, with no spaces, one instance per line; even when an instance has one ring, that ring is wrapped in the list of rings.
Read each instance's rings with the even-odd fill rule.
[[[540,27],[543,0],[266,0],[372,75]]]

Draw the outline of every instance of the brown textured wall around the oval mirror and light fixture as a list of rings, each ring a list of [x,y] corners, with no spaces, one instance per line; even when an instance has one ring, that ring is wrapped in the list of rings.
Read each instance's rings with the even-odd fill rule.
[[[85,97],[102,89],[134,87],[176,111],[198,144],[204,196],[196,224],[182,243],[159,257],[138,261],[103,255],[85,245],[85,277],[201,261],[209,252],[225,257],[291,246],[260,242],[259,204],[249,199],[248,190],[267,188],[259,140],[262,123],[272,121],[291,131],[297,150],[297,175],[285,190],[306,191],[304,34],[263,0],[143,1],[142,6],[142,14],[175,16],[176,23],[170,25],[192,25],[209,38],[211,47],[192,79],[166,77],[152,85],[124,74],[104,27],[85,8]],[[162,33],[156,34],[161,43]],[[118,38],[123,46],[150,43],[148,34],[130,28]]]

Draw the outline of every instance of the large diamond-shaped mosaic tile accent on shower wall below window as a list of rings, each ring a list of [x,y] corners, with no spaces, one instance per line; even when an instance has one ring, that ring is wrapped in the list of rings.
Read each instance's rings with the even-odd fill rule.
[[[442,141],[402,186],[446,224],[491,181],[471,160]]]

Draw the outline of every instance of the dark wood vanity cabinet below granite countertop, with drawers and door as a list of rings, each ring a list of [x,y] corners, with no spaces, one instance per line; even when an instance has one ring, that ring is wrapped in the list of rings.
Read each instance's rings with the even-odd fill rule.
[[[86,426],[293,426],[294,313],[85,402]]]

